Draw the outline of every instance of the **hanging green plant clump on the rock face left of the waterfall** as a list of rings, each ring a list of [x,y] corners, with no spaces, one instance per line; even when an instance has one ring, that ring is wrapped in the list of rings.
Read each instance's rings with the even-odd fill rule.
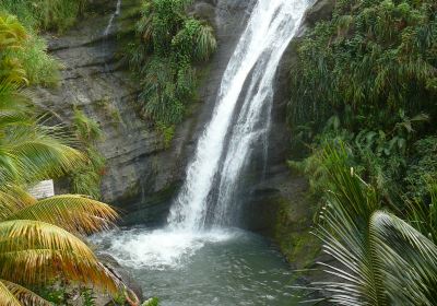
[[[188,16],[190,3],[145,0],[137,25],[138,42],[128,55],[142,84],[141,113],[165,126],[182,120],[194,95],[194,64],[208,60],[216,48],[212,27]]]

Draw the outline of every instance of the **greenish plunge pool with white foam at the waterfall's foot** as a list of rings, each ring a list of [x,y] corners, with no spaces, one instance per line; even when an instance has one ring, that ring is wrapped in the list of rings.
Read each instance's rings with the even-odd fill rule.
[[[162,306],[297,305],[292,270],[263,237],[240,229],[118,229],[93,237]]]

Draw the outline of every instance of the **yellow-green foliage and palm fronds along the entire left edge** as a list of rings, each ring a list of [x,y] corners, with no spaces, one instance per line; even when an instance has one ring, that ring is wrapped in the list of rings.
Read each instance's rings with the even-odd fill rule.
[[[36,199],[27,191],[90,163],[88,154],[73,148],[76,138],[49,123],[24,92],[27,84],[46,84],[39,68],[55,62],[45,47],[35,47],[34,30],[5,11],[15,5],[23,13],[20,5],[27,4],[0,4],[0,304],[51,305],[31,289],[57,278],[116,294],[125,285],[82,240],[108,228],[116,211],[86,196]]]

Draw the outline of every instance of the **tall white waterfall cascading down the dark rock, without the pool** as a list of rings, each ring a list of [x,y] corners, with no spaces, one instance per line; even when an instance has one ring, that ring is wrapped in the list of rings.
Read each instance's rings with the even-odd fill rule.
[[[269,129],[277,66],[306,8],[307,0],[258,0],[223,75],[212,119],[199,139],[185,184],[170,210],[169,227],[203,228],[211,205],[214,225],[229,223],[239,174],[250,158],[251,146],[265,138]],[[243,91],[246,84],[248,90]],[[239,101],[241,107],[237,107]],[[213,188],[217,188],[217,199],[209,203]]]

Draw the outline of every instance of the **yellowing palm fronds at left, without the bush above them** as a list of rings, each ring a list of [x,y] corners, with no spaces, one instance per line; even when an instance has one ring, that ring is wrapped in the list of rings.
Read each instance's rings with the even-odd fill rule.
[[[85,156],[69,145],[60,127],[35,117],[14,82],[0,86],[0,299],[2,305],[48,305],[25,289],[63,275],[118,291],[118,280],[80,236],[107,228],[117,213],[87,197],[43,200],[26,190],[81,165]]]

